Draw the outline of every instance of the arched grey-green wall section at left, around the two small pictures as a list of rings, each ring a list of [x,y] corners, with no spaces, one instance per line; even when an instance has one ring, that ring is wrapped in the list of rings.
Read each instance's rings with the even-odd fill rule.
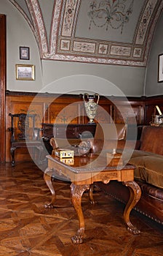
[[[37,92],[42,86],[42,75],[36,39],[28,23],[12,4],[6,0],[0,1],[0,10],[7,20],[7,90]],[[20,46],[30,48],[30,60],[20,60]],[[15,64],[35,65],[36,80],[16,80]]]

